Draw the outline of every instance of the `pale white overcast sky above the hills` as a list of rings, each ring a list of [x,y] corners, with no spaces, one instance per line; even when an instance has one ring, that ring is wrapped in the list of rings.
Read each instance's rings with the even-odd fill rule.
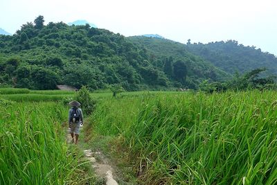
[[[85,19],[125,36],[159,34],[186,43],[237,40],[277,55],[274,0],[0,0],[0,28],[15,33],[43,15],[48,22]]]

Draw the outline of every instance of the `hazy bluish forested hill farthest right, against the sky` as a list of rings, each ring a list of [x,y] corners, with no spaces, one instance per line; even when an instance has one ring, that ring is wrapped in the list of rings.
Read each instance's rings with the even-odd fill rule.
[[[265,67],[269,73],[277,75],[277,58],[264,53],[254,46],[243,46],[237,41],[211,42],[208,44],[186,44],[186,49],[200,55],[216,67],[228,73],[244,73],[256,68]]]

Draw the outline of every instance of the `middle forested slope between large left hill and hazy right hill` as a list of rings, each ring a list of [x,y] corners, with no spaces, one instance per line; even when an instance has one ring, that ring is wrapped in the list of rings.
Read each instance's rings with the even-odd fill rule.
[[[145,47],[152,58],[156,58],[159,64],[162,64],[161,67],[163,67],[165,58],[171,57],[173,61],[184,61],[188,68],[188,78],[194,82],[202,79],[225,80],[231,77],[228,73],[203,60],[203,58],[190,53],[186,46],[179,42],[143,36],[128,37],[128,39]]]

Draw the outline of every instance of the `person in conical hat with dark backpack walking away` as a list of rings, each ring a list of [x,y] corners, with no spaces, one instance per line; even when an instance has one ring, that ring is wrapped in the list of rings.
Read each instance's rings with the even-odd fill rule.
[[[80,125],[83,124],[82,109],[78,108],[81,104],[78,101],[73,100],[69,105],[71,106],[71,109],[69,109],[69,128],[72,137],[71,142],[74,143],[75,135],[75,144],[77,144],[80,134]]]

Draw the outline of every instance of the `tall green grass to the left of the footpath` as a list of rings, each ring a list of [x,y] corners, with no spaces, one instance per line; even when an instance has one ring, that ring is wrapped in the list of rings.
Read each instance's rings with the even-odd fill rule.
[[[77,183],[78,156],[65,142],[67,109],[55,103],[0,107],[0,184]],[[79,161],[80,162],[80,161]]]

